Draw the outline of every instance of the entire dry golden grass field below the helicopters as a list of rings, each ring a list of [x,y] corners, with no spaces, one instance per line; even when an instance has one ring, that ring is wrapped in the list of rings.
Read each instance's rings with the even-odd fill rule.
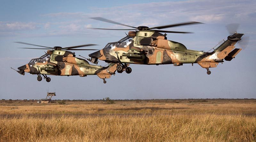
[[[0,141],[256,141],[256,99],[55,102],[0,100],[0,114],[112,115],[2,117]]]

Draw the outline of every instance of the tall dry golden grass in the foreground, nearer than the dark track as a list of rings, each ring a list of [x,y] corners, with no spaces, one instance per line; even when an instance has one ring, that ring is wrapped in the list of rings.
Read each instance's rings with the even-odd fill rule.
[[[209,114],[0,122],[0,141],[256,141],[255,135],[255,117]]]

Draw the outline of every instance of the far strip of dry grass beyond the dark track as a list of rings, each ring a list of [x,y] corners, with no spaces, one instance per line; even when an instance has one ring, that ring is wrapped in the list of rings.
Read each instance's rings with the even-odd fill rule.
[[[67,102],[65,105],[32,104],[2,105],[0,114],[88,114],[88,113],[174,113],[174,114],[256,114],[256,101],[209,102],[146,102],[116,101],[114,105],[102,101]]]

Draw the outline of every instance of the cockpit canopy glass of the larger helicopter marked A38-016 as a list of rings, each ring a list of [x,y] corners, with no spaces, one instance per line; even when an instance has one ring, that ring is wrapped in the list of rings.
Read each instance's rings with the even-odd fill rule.
[[[132,43],[132,37],[129,36],[125,36],[124,38],[122,38],[121,40],[119,40],[118,42],[113,42],[113,43],[108,43],[104,50],[106,52],[112,51],[113,49],[115,49],[116,47],[118,48],[125,48],[127,47],[129,44]]]

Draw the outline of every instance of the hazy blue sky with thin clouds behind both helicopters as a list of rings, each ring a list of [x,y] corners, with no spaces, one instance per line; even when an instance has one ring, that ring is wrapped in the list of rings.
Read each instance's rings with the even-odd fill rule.
[[[197,99],[256,98],[256,1],[254,0],[129,0],[129,1],[2,1],[0,5],[0,99],[43,99],[47,90],[56,90],[52,99]],[[103,17],[134,27],[162,26],[186,21],[205,24],[167,28],[194,34],[168,33],[168,40],[183,43],[188,49],[208,51],[229,35],[226,25],[240,24],[238,33],[250,37],[246,48],[232,61],[225,61],[212,74],[198,64],[135,65],[132,73],[116,73],[106,79],[97,75],[49,76],[51,82],[38,82],[36,75],[18,74],[17,68],[44,54],[44,50],[20,49],[34,46],[75,46],[98,44],[123,38],[128,31],[93,30],[126,28],[90,17]],[[243,44],[237,43],[237,48]],[[45,50],[46,51],[46,50]],[[92,51],[76,51],[88,57]],[[100,61],[98,65],[107,63]]]

